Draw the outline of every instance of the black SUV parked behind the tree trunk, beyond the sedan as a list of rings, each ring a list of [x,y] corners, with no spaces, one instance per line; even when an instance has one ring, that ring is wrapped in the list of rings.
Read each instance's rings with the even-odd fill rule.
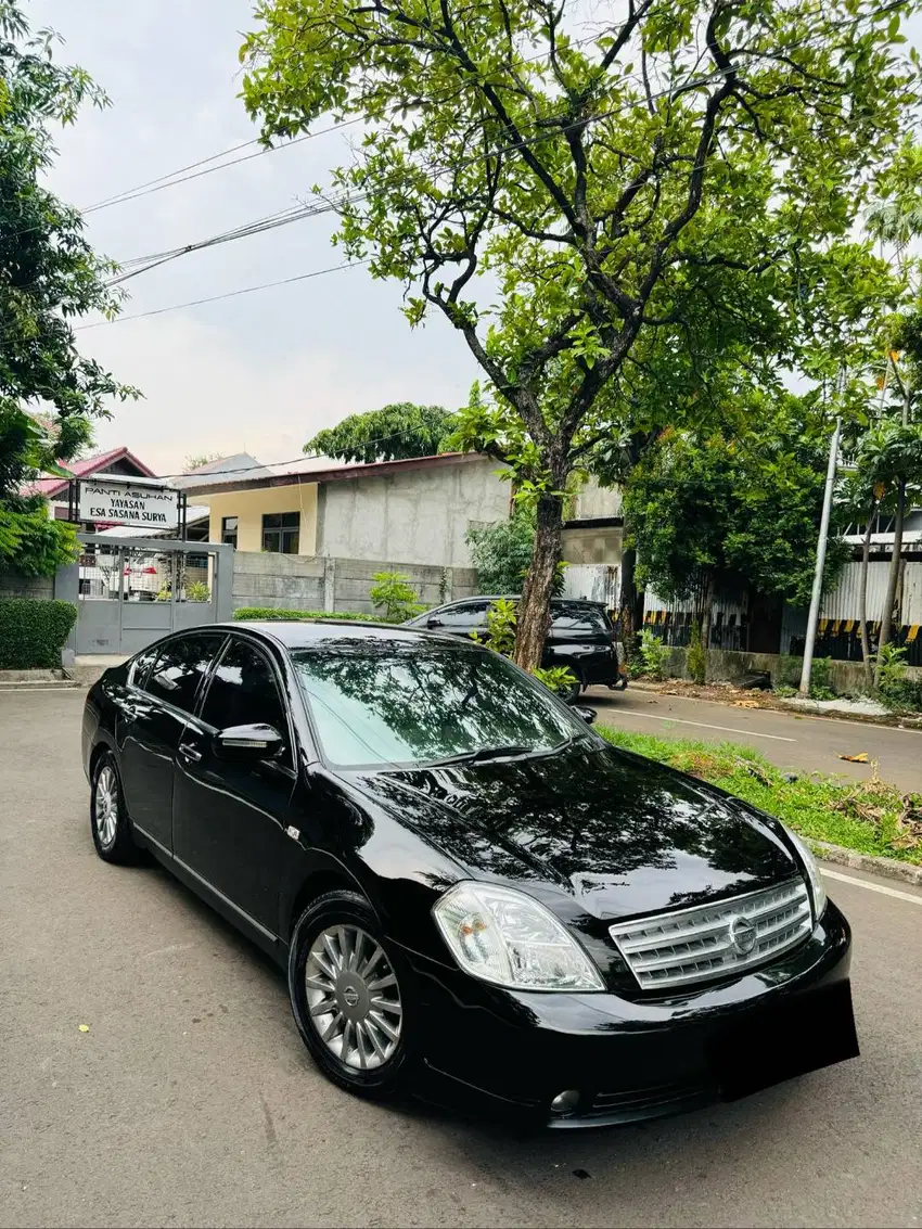
[[[428,627],[451,635],[483,635],[487,611],[497,596],[466,597],[447,606],[436,606],[408,619],[407,627]],[[518,602],[518,596],[508,597]],[[615,628],[601,602],[573,597],[551,600],[551,630],[545,644],[543,666],[567,666],[577,682],[565,697],[573,703],[590,683],[622,691],[627,687],[627,670]]]

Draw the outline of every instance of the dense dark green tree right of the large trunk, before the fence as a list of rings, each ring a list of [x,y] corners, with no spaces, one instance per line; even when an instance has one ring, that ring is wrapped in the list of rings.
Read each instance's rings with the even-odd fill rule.
[[[666,430],[634,468],[625,515],[638,575],[666,599],[693,599],[701,644],[722,591],[810,600],[826,440],[810,398],[756,402],[743,441]],[[826,584],[846,551],[830,543]]]

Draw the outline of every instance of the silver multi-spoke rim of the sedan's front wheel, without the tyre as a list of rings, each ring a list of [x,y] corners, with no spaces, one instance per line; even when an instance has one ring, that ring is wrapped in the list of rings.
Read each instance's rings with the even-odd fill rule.
[[[386,1063],[401,1037],[400,987],[384,949],[355,925],[313,940],[304,971],[311,1025],[336,1057],[357,1070]]]

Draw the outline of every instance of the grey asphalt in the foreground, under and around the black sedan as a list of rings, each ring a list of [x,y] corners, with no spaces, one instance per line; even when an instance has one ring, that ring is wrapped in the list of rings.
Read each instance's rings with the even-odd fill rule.
[[[0,1224],[922,1219],[922,893],[830,880],[857,1061],[590,1133],[368,1105],[313,1068],[254,948],[159,869],[96,857],[81,705],[0,694]]]

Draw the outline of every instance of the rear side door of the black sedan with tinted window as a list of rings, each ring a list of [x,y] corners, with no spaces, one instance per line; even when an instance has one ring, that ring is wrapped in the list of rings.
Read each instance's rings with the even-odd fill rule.
[[[154,645],[135,662],[132,685],[118,703],[116,742],[128,814],[167,852],[176,753],[225,639],[223,632],[189,632]]]

